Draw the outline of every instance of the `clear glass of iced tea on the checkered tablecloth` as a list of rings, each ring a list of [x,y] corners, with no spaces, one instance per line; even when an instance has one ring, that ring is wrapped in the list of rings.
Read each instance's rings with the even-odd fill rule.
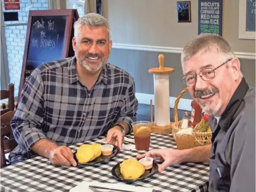
[[[150,146],[151,122],[149,121],[136,121],[132,124],[134,131],[135,147],[138,151],[147,151]]]

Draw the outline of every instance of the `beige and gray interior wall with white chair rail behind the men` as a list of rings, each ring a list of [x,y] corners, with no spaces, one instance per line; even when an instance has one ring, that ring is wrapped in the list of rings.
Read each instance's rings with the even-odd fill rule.
[[[165,56],[169,76],[170,107],[185,87],[181,78],[182,47],[198,34],[198,0],[191,0],[191,23],[177,22],[177,1],[106,0],[102,13],[112,27],[113,49],[109,62],[123,68],[135,79],[140,103],[154,103],[153,75],[149,68],[159,66],[158,55]],[[239,0],[223,1],[222,36],[230,43],[241,62],[241,71],[250,86],[255,86],[255,40],[238,38]],[[179,109],[191,110],[191,96],[184,93]]]

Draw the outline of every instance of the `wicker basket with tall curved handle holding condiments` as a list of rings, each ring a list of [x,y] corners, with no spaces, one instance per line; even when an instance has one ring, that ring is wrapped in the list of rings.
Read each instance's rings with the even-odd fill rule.
[[[179,93],[174,105],[174,123],[172,125],[172,135],[175,140],[176,140],[175,133],[179,130],[178,127],[181,125],[181,120],[178,121],[178,104],[183,93],[186,92],[187,90],[188,90],[187,88],[184,88]],[[211,132],[196,132],[195,147],[211,144],[211,137],[212,137]]]

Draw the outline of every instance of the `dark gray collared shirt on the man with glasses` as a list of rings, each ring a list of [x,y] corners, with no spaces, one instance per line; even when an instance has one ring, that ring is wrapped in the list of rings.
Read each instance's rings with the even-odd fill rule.
[[[255,191],[255,87],[245,79],[219,123],[211,117],[209,192]]]

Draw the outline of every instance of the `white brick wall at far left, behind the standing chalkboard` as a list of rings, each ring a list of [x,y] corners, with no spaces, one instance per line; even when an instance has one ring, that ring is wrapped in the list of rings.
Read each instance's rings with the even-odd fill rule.
[[[1,0],[3,12],[4,0]],[[8,21],[4,24],[27,23],[29,19],[30,10],[45,10],[49,9],[48,0],[20,0],[20,10],[18,12],[18,21]],[[27,26],[10,26],[5,27],[7,58],[10,82],[15,84],[15,95],[18,95],[18,88],[20,85],[20,77],[22,70],[23,54],[26,41]]]

